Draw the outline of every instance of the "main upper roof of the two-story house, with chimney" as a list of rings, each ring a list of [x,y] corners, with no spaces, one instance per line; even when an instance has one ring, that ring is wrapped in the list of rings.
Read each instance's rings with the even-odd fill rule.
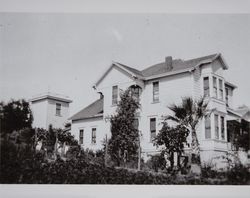
[[[123,69],[124,71],[126,71],[128,74],[130,74],[134,78],[138,78],[141,80],[151,80],[154,78],[160,78],[160,77],[179,74],[179,73],[183,73],[183,72],[189,72],[189,71],[192,71],[203,64],[212,63],[217,58],[220,58],[220,60],[222,62],[223,69],[227,69],[228,66],[220,53],[211,54],[208,56],[203,56],[203,57],[190,59],[190,60],[174,59],[174,60],[172,60],[172,68],[171,69],[168,69],[166,67],[165,62],[149,66],[141,71],[139,71],[135,68],[129,67],[127,65],[118,63],[118,62],[113,62],[111,67],[96,82],[95,86],[105,77],[105,75],[107,75],[107,73],[110,71],[110,69],[113,66],[117,66],[120,69]]]

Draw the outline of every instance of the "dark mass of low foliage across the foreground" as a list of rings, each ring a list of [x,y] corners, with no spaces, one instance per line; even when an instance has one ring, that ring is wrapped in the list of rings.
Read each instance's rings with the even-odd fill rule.
[[[1,183],[22,184],[249,184],[250,173],[234,167],[227,173],[202,177],[170,175],[153,171],[105,167],[102,152],[81,151],[66,161],[48,161],[43,153],[28,147],[18,150],[9,142],[1,144]]]

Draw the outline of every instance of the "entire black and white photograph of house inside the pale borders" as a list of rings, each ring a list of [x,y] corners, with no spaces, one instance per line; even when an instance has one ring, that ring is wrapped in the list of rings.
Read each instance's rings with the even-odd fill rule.
[[[0,183],[250,185],[250,14],[0,12]]]

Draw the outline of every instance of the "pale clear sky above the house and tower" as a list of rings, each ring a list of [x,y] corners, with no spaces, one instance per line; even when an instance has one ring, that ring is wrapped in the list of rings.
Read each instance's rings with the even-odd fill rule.
[[[99,98],[92,85],[112,61],[143,69],[219,52],[235,107],[250,106],[250,14],[0,13],[0,101],[50,91],[73,100],[72,115]]]

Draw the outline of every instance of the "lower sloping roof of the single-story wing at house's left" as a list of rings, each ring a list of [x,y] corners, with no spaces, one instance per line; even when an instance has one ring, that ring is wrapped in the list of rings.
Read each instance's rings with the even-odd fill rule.
[[[88,118],[102,117],[103,116],[103,98],[96,100],[89,106],[85,107],[75,115],[69,118],[69,120],[84,120]]]

